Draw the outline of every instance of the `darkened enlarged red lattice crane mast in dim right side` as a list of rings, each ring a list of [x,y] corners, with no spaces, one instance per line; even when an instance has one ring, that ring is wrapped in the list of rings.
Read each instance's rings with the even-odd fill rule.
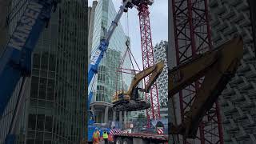
[[[177,65],[190,61],[198,53],[204,53],[212,48],[210,22],[207,0],[172,0],[174,27],[174,46]],[[181,90],[178,94],[180,116],[190,110],[194,95],[200,87],[200,81]],[[218,102],[206,113],[198,128],[197,138],[183,139],[189,143],[219,143],[223,144],[221,117]]]

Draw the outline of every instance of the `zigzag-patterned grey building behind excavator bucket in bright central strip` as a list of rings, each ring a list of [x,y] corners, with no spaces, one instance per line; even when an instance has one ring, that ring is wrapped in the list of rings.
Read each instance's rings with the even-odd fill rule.
[[[158,82],[158,100],[160,107],[167,106],[168,101],[168,67],[167,67],[167,49],[168,42],[162,41],[154,46],[154,62],[164,61],[165,66],[162,70],[162,74],[159,75]],[[167,113],[167,112],[166,112]]]

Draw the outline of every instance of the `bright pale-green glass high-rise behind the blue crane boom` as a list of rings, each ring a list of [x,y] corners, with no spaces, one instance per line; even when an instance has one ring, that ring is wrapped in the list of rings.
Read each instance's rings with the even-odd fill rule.
[[[112,1],[98,1],[94,14],[94,33],[91,55],[97,50],[101,38],[105,36],[106,30],[110,27],[116,14],[117,12]],[[116,118],[119,118],[117,116],[122,116],[122,113],[116,116],[115,111],[112,109],[111,100],[117,89],[122,89],[122,86],[124,89],[127,89],[127,86],[130,85],[130,76],[116,73],[126,51],[126,40],[126,34],[122,29],[121,23],[118,22],[118,26],[110,38],[108,50],[106,50],[106,54],[98,66],[98,75],[95,77],[94,86],[89,89],[94,92],[90,108],[95,113],[96,122],[106,123],[115,121]],[[127,58],[123,66],[130,68],[131,64]],[[122,118],[120,117],[119,119]]]

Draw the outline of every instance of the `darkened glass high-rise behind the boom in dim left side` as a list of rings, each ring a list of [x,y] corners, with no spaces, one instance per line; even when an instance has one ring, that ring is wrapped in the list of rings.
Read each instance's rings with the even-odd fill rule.
[[[14,31],[26,10],[26,0],[12,0],[9,28]],[[62,0],[38,40],[32,75],[25,86],[26,102],[18,118],[18,142],[79,143],[85,133],[86,10],[80,0]],[[20,86],[20,84],[18,84]],[[17,86],[17,87],[18,87]],[[17,88],[18,89],[18,88]],[[17,99],[14,91],[1,126],[10,125]],[[6,125],[5,125],[6,124]],[[0,128],[0,142],[8,126]]]

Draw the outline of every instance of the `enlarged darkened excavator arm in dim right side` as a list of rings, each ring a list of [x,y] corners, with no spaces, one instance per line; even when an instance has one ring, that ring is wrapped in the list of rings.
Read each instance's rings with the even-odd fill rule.
[[[186,138],[196,137],[199,123],[234,76],[242,55],[242,38],[233,38],[217,49],[200,54],[190,62],[169,71],[169,98],[204,77],[200,88],[196,90],[197,94],[190,110],[184,114],[182,123],[178,126],[170,124],[170,134],[182,134]]]

